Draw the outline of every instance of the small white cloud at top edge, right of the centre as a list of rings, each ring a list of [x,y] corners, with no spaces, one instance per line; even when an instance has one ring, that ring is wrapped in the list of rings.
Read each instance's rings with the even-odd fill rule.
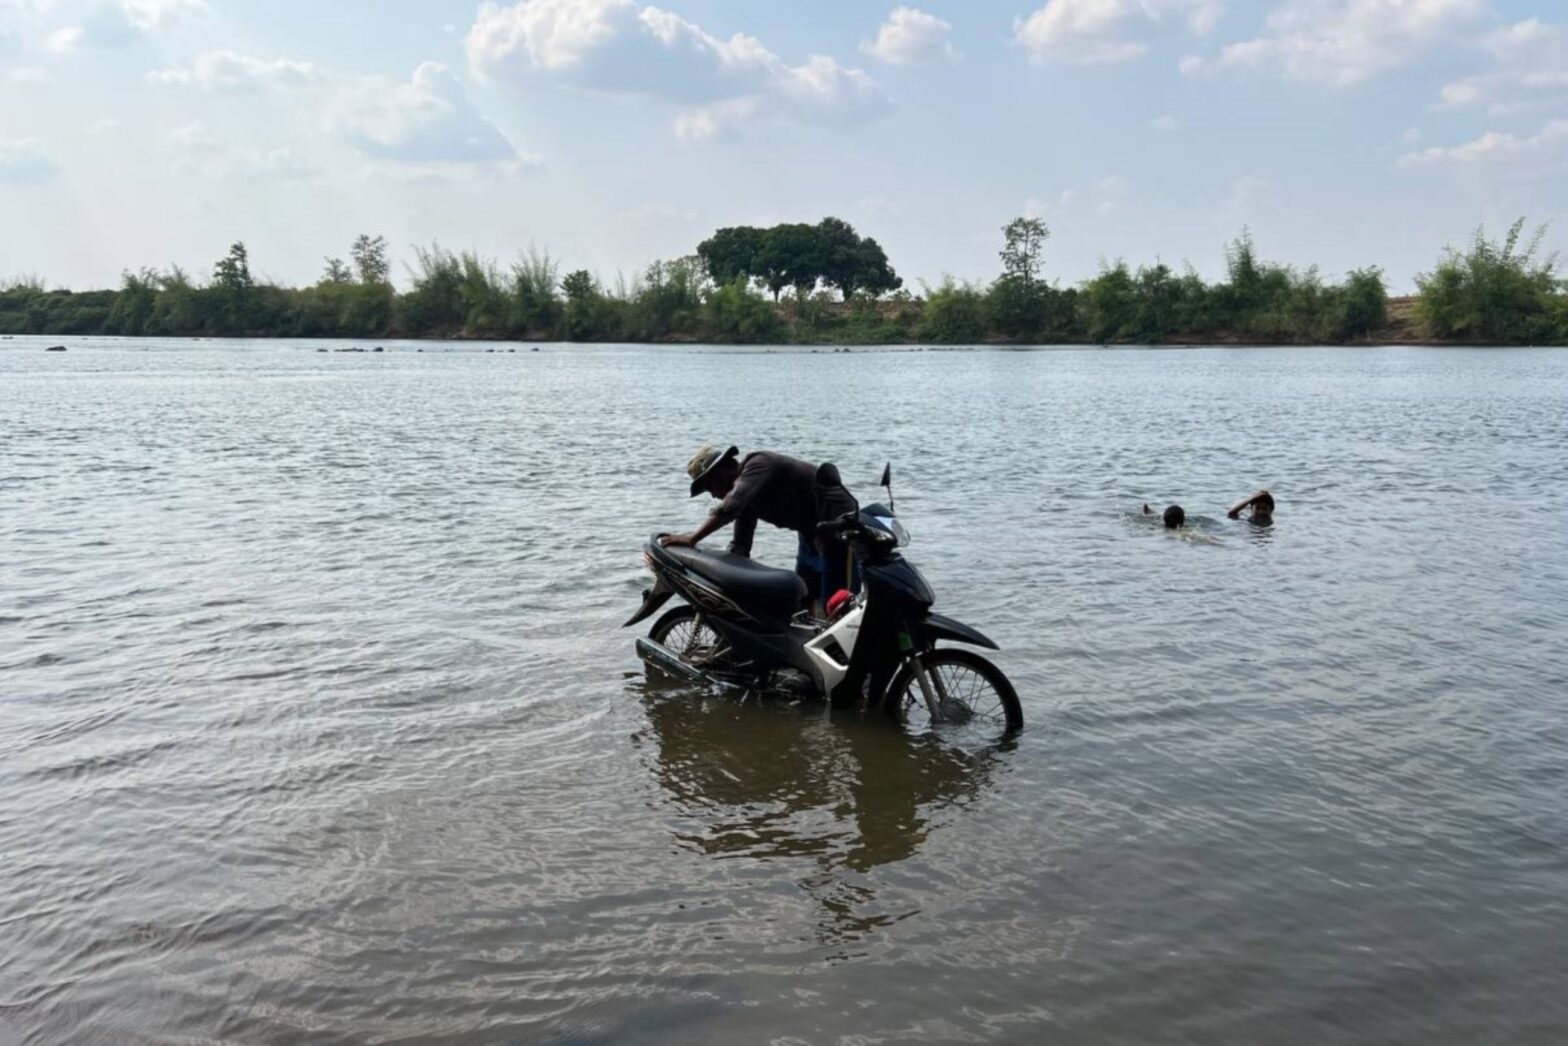
[[[1013,24],[1013,39],[1035,63],[1129,61],[1173,28],[1207,35],[1223,13],[1225,0],[1046,0]]]

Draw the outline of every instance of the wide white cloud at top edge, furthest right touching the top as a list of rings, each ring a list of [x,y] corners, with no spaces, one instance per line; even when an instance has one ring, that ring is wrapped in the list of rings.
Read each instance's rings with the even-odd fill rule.
[[[1355,86],[1397,69],[1490,14],[1490,0],[1283,0],[1264,31],[1215,58],[1187,56],[1185,75],[1281,69],[1292,80]]]

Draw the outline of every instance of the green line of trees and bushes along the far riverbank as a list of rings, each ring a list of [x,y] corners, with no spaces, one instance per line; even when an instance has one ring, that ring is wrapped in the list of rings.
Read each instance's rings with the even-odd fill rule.
[[[1524,221],[1501,238],[1477,231],[1417,278],[1402,336],[1485,343],[1568,343],[1568,284]],[[986,284],[903,287],[881,246],[848,223],[720,229],[685,257],[605,284],[563,271],[547,252],[502,267],[472,251],[419,246],[408,289],[392,282],[383,237],[328,257],[309,287],[257,279],[243,243],[207,279],[180,267],[125,273],[118,290],[0,287],[0,334],[494,337],[724,343],[1159,343],[1251,340],[1347,343],[1388,337],[1378,268],[1325,279],[1264,260],[1248,232],[1225,251],[1225,276],[1192,267],[1102,265],[1077,285],[1044,278],[1051,231],[1038,218],[1002,229],[1000,273]],[[786,293],[787,292],[787,293]],[[771,300],[770,300],[771,296]]]

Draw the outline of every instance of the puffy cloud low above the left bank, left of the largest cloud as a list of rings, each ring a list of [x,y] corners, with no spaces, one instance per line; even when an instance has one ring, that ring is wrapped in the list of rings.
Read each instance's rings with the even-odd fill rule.
[[[452,71],[433,61],[406,83],[362,77],[326,108],[326,125],[367,155],[411,163],[499,163],[517,151],[474,108]]]

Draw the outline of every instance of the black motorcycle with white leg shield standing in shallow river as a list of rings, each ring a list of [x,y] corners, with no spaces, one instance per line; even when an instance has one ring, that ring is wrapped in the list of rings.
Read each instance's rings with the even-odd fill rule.
[[[836,485],[822,466],[818,481]],[[974,726],[1010,735],[1024,712],[1008,677],[980,654],[938,643],[999,649],[977,629],[933,613],[936,594],[898,549],[909,533],[892,505],[892,466],[883,470],[887,505],[869,505],[817,525],[847,546],[861,591],[837,593],[826,618],[801,610],[806,585],[793,572],[731,552],[643,546],[654,585],[622,626],[651,618],[671,597],[637,651],[649,665],[693,682],[739,688],[782,687],[828,698],[834,707],[881,707],[914,726]]]

